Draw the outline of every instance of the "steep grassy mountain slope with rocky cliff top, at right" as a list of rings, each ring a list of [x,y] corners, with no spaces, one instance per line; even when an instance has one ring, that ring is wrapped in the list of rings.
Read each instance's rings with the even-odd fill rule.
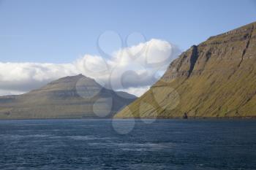
[[[255,66],[256,23],[211,36],[115,117],[255,117]]]

